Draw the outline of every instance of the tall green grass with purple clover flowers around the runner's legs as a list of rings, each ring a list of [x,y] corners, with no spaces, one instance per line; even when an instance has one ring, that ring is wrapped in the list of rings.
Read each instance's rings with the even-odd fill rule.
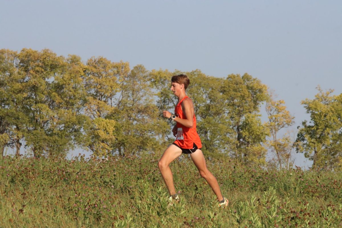
[[[168,206],[159,156],[108,161],[0,160],[1,227],[342,227],[342,175],[207,161],[229,206],[196,167],[171,164],[180,203]]]

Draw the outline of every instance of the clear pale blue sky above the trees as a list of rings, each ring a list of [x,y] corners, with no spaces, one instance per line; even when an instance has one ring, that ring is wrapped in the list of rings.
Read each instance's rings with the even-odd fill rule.
[[[0,32],[0,49],[215,77],[247,72],[285,100],[295,126],[308,118],[300,102],[317,85],[341,93],[341,1],[0,0]]]

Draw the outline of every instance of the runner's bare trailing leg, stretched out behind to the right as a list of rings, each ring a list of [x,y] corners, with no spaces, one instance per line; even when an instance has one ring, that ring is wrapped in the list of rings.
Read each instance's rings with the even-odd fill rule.
[[[219,187],[219,183],[217,182],[214,175],[207,168],[206,160],[204,159],[203,153],[200,149],[196,150],[194,153],[190,153],[190,156],[196,165],[199,174],[207,180],[213,192],[216,194],[217,199],[219,201],[223,200],[223,196],[221,194],[221,190]]]

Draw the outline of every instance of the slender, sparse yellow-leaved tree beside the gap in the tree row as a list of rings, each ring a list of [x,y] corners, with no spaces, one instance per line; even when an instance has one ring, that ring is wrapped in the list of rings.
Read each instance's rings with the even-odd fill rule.
[[[274,100],[273,93],[270,93],[270,98],[266,102],[266,112],[268,122],[266,123],[270,137],[267,140],[267,145],[274,153],[274,161],[281,169],[290,168],[292,164],[291,155],[293,150],[293,142],[289,133],[279,137],[280,131],[284,128],[292,126],[294,117],[286,110],[284,100]]]

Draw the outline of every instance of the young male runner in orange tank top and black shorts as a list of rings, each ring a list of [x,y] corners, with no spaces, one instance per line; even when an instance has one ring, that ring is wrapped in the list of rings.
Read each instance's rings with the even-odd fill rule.
[[[219,201],[219,207],[227,206],[228,200],[221,194],[219,183],[216,178],[207,169],[206,161],[201,151],[201,140],[196,132],[196,117],[194,113],[194,104],[186,96],[185,90],[190,80],[186,75],[175,75],[171,79],[171,91],[178,97],[178,103],[175,107],[175,114],[169,111],[163,111],[163,116],[175,121],[176,124],[172,130],[176,140],[163,153],[158,162],[160,173],[165,181],[170,193],[170,204],[172,201],[179,201],[174,185],[173,176],[169,167],[170,163],[179,157],[182,153],[190,154],[199,174],[205,178]]]

